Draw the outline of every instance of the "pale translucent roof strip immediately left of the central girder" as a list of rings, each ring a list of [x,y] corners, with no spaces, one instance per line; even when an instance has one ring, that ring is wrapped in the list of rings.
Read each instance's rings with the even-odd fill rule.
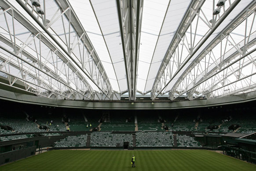
[[[106,46],[117,75],[117,81],[120,85],[120,91],[125,91],[127,90],[127,83],[124,84],[124,81],[126,82],[124,53],[121,44],[116,2],[114,0],[94,0],[91,1],[91,4],[106,41]]]

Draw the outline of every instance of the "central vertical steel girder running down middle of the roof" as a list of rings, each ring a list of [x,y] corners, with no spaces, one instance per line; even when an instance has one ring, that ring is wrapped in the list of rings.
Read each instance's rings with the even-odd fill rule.
[[[136,100],[136,83],[143,0],[117,0],[129,100]]]

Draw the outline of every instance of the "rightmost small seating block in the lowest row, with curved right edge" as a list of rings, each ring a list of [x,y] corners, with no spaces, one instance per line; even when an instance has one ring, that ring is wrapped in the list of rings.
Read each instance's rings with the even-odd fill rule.
[[[176,135],[178,147],[202,147],[194,137],[188,135]]]

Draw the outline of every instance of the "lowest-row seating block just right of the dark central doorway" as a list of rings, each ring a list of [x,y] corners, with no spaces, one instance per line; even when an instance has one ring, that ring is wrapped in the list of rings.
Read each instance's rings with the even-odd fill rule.
[[[136,132],[138,147],[168,147],[173,146],[172,132]]]

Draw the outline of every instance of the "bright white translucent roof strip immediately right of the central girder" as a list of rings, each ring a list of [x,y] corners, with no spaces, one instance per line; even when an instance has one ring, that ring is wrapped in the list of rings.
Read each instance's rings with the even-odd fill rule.
[[[139,46],[137,89],[144,92],[146,79],[169,0],[144,0]]]

